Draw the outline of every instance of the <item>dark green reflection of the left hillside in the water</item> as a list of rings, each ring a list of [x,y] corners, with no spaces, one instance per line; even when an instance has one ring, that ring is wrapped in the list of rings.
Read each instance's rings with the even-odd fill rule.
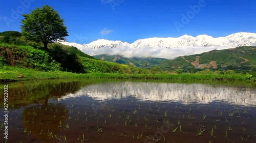
[[[17,86],[15,88],[8,89],[9,105],[15,104],[16,107],[24,106],[31,103],[44,102],[49,97],[61,97],[67,93],[74,94],[81,87],[84,86],[83,82],[43,82],[41,84],[31,83],[23,86]],[[4,97],[4,96],[3,96]],[[0,101],[4,102],[4,98],[0,97]],[[1,103],[3,103],[1,102]],[[12,106],[11,106],[12,107]]]

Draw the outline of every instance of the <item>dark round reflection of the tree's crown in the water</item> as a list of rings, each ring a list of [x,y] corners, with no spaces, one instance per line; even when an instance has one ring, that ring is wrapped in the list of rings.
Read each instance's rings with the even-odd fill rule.
[[[65,105],[61,103],[48,103],[48,99],[44,104],[26,107],[22,113],[23,127],[28,132],[38,135],[56,135],[59,132],[59,126],[64,125],[63,122],[67,118],[67,110]],[[49,130],[49,133],[48,133]]]

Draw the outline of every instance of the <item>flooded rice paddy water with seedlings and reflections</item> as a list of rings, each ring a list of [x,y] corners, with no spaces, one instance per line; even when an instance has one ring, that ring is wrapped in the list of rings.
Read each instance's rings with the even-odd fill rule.
[[[56,80],[9,87],[8,142],[256,142],[255,87]]]

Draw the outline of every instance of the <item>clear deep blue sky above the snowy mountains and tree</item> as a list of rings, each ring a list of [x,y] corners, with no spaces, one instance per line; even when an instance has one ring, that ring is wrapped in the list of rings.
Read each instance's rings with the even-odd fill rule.
[[[67,40],[79,44],[97,39],[132,43],[185,34],[220,37],[256,33],[254,0],[1,0],[0,32],[20,32],[20,14],[42,5],[58,11],[68,27]]]

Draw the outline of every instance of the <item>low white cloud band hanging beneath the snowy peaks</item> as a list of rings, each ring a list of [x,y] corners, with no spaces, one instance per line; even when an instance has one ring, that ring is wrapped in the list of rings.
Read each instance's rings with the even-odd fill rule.
[[[221,50],[227,49],[232,47],[184,47],[184,48],[176,48],[176,49],[168,49],[168,48],[152,48],[152,47],[143,47],[143,48],[129,48],[129,47],[117,47],[117,48],[109,48],[109,47],[102,47],[98,49],[90,49],[84,48],[81,49],[84,53],[90,55],[97,55],[97,54],[109,54],[109,55],[116,55],[121,54],[125,57],[148,57],[152,56],[154,58],[166,58],[166,59],[173,59],[178,56],[183,55],[190,55],[190,54],[198,54],[202,52],[207,52],[210,50]]]

